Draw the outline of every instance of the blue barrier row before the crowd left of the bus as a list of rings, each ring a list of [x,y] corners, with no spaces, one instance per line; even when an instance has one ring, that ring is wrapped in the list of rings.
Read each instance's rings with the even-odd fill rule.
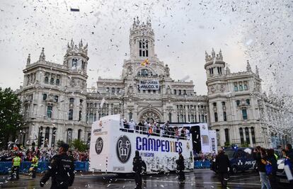
[[[40,161],[38,164],[38,173],[43,173],[48,169],[49,162],[48,161]],[[75,170],[76,171],[88,171],[88,161],[75,161],[74,162]],[[12,162],[11,161],[4,161],[0,162],[0,173],[8,173],[11,170]],[[21,162],[21,167],[19,171],[22,173],[27,173],[31,167],[30,161],[23,161]]]

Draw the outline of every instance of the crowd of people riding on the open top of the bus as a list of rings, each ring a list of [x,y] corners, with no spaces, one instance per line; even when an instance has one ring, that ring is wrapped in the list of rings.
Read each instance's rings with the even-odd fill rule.
[[[138,132],[140,134],[147,134],[171,137],[177,139],[190,139],[190,130],[188,127],[171,127],[169,121],[160,125],[157,122],[139,121],[135,123],[133,119],[127,122],[126,118],[120,121],[120,130],[125,132]]]

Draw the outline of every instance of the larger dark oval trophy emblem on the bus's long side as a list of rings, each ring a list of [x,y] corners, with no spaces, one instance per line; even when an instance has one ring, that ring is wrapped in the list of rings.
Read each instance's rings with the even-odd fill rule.
[[[130,139],[128,139],[128,137],[126,137],[125,135],[121,135],[119,139],[117,140],[116,154],[119,161],[122,164],[125,164],[130,159],[130,154],[131,154]]]

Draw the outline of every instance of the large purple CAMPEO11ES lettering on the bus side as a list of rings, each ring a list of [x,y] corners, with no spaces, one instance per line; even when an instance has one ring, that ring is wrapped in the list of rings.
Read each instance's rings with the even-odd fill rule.
[[[166,151],[178,153],[179,151],[182,151],[182,142],[168,141],[166,139],[137,137],[136,149],[139,151]]]

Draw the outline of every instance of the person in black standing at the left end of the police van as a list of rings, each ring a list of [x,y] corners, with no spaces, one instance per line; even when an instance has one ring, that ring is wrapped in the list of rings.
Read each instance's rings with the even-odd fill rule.
[[[219,153],[216,157],[216,167],[219,173],[219,177],[221,179],[222,187],[227,187],[227,182],[229,180],[229,168],[230,168],[230,161],[229,158],[223,149],[219,149]]]

